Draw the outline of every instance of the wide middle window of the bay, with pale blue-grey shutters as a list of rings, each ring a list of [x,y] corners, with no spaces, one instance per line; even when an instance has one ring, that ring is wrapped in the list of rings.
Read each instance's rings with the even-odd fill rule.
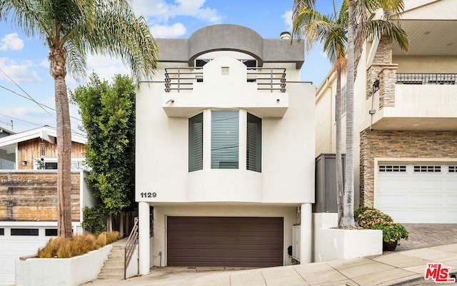
[[[238,111],[211,111],[211,168],[238,169]]]

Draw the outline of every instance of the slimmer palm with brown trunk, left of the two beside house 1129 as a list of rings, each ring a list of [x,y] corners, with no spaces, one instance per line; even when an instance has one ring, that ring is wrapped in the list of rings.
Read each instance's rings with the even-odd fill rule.
[[[331,16],[320,14],[310,6],[294,2],[292,35],[306,38],[306,51],[316,42],[323,42],[323,50],[333,63],[336,72],[336,194],[338,206],[338,226],[343,218],[343,168],[341,162],[341,74],[346,72],[346,19],[347,2],[343,1],[337,16],[335,1]],[[295,6],[297,5],[297,6]]]

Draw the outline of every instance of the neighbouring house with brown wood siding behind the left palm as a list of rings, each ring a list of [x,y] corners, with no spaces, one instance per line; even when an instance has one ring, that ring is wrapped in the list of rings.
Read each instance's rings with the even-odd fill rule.
[[[84,136],[72,134],[74,233],[82,232],[81,209],[94,205],[82,170],[85,143]],[[0,158],[11,166],[0,170],[0,285],[14,285],[14,260],[33,255],[57,235],[56,129],[45,126],[1,137]]]

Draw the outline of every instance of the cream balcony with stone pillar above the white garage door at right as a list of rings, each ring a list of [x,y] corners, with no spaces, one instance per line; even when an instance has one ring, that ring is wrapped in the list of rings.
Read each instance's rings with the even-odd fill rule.
[[[457,130],[456,78],[456,73],[396,73],[396,84],[390,85],[381,79],[379,91],[366,100],[365,128]]]

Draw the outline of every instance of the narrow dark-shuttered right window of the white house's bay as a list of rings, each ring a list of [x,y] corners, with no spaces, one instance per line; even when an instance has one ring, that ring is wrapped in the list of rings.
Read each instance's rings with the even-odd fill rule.
[[[248,113],[246,168],[261,172],[262,158],[262,120]]]

